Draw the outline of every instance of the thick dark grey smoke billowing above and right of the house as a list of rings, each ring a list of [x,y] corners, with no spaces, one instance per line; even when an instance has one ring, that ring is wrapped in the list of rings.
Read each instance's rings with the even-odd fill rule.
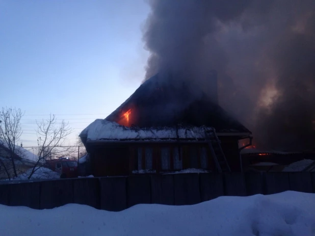
[[[172,71],[202,88],[216,69],[219,103],[258,146],[314,146],[314,0],[148,2],[146,78]]]

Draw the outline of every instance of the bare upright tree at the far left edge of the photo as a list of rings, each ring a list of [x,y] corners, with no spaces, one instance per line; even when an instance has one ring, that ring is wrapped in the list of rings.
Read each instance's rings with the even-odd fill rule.
[[[16,143],[22,135],[20,121],[23,115],[24,113],[16,108],[2,108],[0,111],[0,145],[9,154],[5,159],[0,159],[0,164],[4,167],[9,179],[11,179],[9,171],[11,168],[13,177],[17,177],[15,159],[16,156],[21,157],[22,153],[17,153]]]

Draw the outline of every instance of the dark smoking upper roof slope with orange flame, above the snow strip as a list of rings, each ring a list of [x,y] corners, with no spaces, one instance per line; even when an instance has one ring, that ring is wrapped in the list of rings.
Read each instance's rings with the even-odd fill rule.
[[[106,120],[125,126],[162,127],[177,124],[214,127],[217,133],[249,133],[218,104],[190,84],[156,74],[143,83]],[[128,121],[124,114],[130,111]]]

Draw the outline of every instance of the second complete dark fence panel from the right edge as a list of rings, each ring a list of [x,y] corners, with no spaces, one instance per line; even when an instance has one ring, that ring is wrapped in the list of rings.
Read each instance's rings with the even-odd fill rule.
[[[266,173],[266,194],[281,193],[290,190],[287,172]]]

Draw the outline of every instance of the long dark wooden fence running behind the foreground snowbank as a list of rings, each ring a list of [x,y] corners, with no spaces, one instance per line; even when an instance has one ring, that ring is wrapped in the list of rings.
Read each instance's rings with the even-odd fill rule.
[[[141,203],[189,205],[219,196],[315,193],[315,173],[191,173],[2,183],[0,204],[46,209],[68,203],[122,211]]]

